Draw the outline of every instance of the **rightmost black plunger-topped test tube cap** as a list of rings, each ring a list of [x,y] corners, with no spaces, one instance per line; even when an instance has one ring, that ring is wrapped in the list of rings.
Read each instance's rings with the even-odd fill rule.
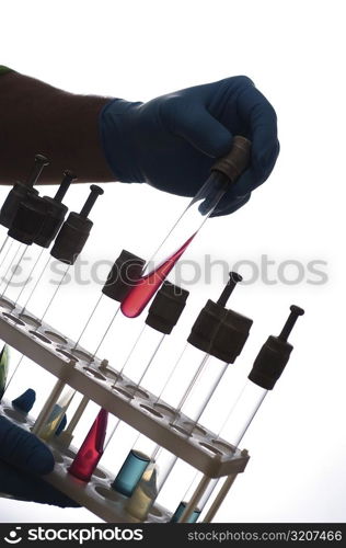
[[[288,335],[298,317],[304,313],[302,308],[295,305],[290,307],[290,310],[291,313],[281,333],[278,336],[268,336],[249,375],[250,380],[266,390],[273,390],[276,381],[280,378],[293,350],[293,346],[287,342]]]

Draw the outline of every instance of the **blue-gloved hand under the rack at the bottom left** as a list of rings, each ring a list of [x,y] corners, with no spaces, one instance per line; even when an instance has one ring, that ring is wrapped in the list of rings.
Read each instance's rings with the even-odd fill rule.
[[[54,456],[49,448],[34,434],[0,415],[0,495],[78,507],[78,503],[41,477],[53,468]]]

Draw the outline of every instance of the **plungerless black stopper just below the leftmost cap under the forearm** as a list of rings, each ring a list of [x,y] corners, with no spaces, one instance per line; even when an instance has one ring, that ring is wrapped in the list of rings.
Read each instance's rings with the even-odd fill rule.
[[[47,204],[36,194],[21,202],[13,217],[8,235],[26,246],[31,246],[39,233],[47,215]]]

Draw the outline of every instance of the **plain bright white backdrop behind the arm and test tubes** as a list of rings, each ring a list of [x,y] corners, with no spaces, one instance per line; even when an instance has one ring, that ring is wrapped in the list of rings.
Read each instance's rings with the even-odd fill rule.
[[[323,260],[328,282],[309,284],[309,273],[291,285],[257,279],[232,297],[232,307],[254,319],[234,366],[241,373],[241,379],[234,377],[239,388],[265,339],[279,332],[289,305],[300,305],[307,313],[291,338],[295,351],[287,370],[242,442],[252,458],[217,521],[344,522],[346,516],[343,8],[335,0],[12,0],[0,10],[1,62],[56,87],[146,101],[247,75],[277,111],[281,153],[270,180],[233,217],[208,221],[186,259],[201,262],[210,253],[231,267],[239,260],[260,264],[267,254],[276,262],[273,278],[282,261],[307,265]],[[83,252],[88,261],[112,260],[122,248],[148,256],[159,232],[186,204],[145,186],[104,189],[106,198],[92,214],[95,227]],[[48,187],[47,194],[51,192]],[[5,193],[1,191],[1,201]],[[85,194],[82,186],[72,189],[68,205],[80,207]],[[290,275],[295,278],[295,269]],[[217,298],[221,284],[216,270],[211,285],[201,279],[188,287],[189,305],[171,352],[182,347],[197,311],[206,298]],[[55,304],[66,331],[82,323],[99,288],[93,284],[72,290],[74,300],[61,295]],[[128,349],[135,330],[124,330],[120,339]],[[119,350],[114,345],[116,357],[126,344]],[[228,391],[224,385],[214,403],[216,429]],[[85,510],[0,500],[0,521],[23,520],[95,517]]]

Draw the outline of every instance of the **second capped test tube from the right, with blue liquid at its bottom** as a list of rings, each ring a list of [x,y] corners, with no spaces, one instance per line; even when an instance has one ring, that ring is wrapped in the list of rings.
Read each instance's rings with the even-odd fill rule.
[[[188,338],[189,344],[186,345],[160,398],[158,398],[157,403],[161,410],[174,410],[173,413],[178,415],[177,419],[172,419],[171,426],[186,435],[189,435],[194,430],[195,423],[209,402],[228,364],[234,363],[249,336],[252,320],[224,308],[235,284],[241,279],[241,276],[231,272],[230,279],[218,302],[208,300],[192,328]],[[208,350],[201,359],[200,350]],[[199,359],[196,359],[196,354]],[[189,420],[182,424],[178,412],[183,408],[189,411]],[[151,460],[158,459],[161,452],[163,449],[154,442],[140,435],[112,487],[122,494],[128,496],[134,494],[138,484],[140,466],[145,469]],[[164,466],[158,467],[155,472],[158,486],[164,483],[175,461],[175,456],[169,452],[163,452],[163,455],[165,456]],[[168,459],[166,455],[169,455]],[[136,475],[134,473],[129,488],[132,468],[136,470]],[[141,490],[141,487],[139,489]]]

